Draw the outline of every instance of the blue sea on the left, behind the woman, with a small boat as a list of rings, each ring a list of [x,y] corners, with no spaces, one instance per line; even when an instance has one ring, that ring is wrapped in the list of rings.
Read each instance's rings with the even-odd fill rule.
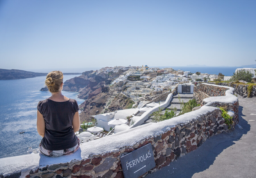
[[[65,75],[64,81],[79,75]],[[0,158],[26,154],[28,147],[37,148],[42,137],[36,129],[37,104],[51,96],[40,91],[45,76],[18,80],[0,80]],[[77,92],[62,91],[68,98],[76,99]],[[22,130],[23,134],[19,134]]]

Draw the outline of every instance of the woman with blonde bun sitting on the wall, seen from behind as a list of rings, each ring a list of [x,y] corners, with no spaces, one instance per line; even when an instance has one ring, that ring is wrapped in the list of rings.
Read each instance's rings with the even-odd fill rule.
[[[37,131],[43,137],[39,150],[51,157],[72,154],[79,148],[79,139],[75,135],[80,128],[77,101],[62,95],[62,72],[50,72],[45,84],[51,97],[37,106]]]

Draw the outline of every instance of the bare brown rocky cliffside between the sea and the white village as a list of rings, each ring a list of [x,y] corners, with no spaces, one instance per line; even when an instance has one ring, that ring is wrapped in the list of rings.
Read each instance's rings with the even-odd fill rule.
[[[79,108],[82,111],[80,113],[80,121],[89,122],[90,116],[101,114],[104,112],[112,112],[118,109],[125,109],[128,106],[117,107],[118,104],[109,104],[115,98],[117,93],[114,90],[111,90],[109,84],[113,81],[114,78],[119,77],[123,71],[118,72],[109,72],[98,73],[97,71],[86,71],[83,72],[81,76],[69,79],[64,82],[64,91],[76,91],[79,92],[78,97],[84,99],[85,101],[80,104]],[[128,98],[126,97],[125,100]],[[128,101],[129,100],[129,101]],[[132,105],[130,99],[128,99],[129,107]]]

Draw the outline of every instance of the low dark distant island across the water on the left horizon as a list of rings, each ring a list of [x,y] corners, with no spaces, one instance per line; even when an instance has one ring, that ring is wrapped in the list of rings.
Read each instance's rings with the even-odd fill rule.
[[[79,75],[81,73],[63,73],[64,75]],[[17,69],[0,69],[0,80],[14,80],[46,76],[47,73],[29,72]]]

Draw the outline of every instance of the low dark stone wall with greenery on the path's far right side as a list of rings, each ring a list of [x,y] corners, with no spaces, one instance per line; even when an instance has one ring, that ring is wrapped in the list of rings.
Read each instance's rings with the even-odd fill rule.
[[[215,82],[206,82],[206,83],[209,83],[209,84],[216,84],[216,85],[221,85],[221,86],[228,86],[228,87],[233,87],[235,90],[234,90],[234,93],[236,95],[240,95],[241,97],[248,97],[248,86],[249,85],[240,85],[240,84],[236,84],[236,83],[222,83],[222,82],[219,82],[219,83],[215,83]],[[253,85],[252,86],[252,91],[250,93],[250,96],[248,98],[251,98],[251,97],[256,97],[256,85]]]

